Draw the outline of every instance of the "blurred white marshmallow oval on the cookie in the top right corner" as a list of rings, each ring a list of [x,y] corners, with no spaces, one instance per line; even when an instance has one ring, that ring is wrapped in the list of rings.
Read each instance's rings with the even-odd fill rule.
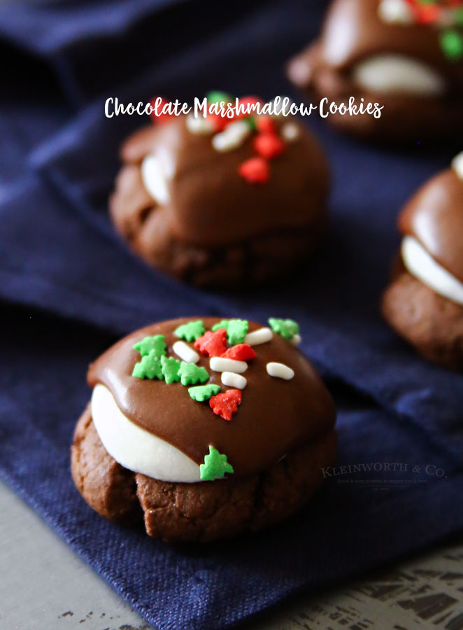
[[[375,55],[359,62],[352,78],[364,90],[378,94],[441,96],[446,82],[431,66],[402,55]]]

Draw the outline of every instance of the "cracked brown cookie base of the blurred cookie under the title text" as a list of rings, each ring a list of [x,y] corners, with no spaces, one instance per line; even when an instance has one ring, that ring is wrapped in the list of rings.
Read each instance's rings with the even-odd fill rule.
[[[117,232],[149,265],[204,287],[238,288],[283,277],[308,260],[327,228],[320,209],[297,230],[282,228],[220,248],[185,243],[171,232],[166,208],[145,193],[138,165],[122,168],[109,209]]]

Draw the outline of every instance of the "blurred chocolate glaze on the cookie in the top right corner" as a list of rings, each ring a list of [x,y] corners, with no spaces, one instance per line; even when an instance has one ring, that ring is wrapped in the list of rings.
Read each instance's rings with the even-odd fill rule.
[[[314,71],[332,69],[349,80],[357,62],[376,55],[413,57],[446,78],[449,92],[463,94],[463,62],[447,59],[439,44],[439,29],[434,25],[397,25],[383,22],[378,16],[379,0],[335,0],[327,13],[316,47],[309,48],[299,59],[309,66],[307,85]],[[330,90],[331,91],[331,90]],[[353,92],[352,92],[353,93]]]

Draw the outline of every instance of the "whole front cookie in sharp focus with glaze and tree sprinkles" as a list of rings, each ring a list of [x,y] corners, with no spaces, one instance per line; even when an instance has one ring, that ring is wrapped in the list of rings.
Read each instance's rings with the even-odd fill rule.
[[[291,319],[182,318],[124,337],[91,366],[74,482],[154,538],[257,531],[313,495],[336,456],[334,403]]]

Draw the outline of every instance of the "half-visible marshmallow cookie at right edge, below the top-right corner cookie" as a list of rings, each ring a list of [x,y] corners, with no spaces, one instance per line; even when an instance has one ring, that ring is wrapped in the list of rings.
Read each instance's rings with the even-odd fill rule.
[[[463,370],[463,153],[408,202],[399,229],[385,319],[429,360]]]

